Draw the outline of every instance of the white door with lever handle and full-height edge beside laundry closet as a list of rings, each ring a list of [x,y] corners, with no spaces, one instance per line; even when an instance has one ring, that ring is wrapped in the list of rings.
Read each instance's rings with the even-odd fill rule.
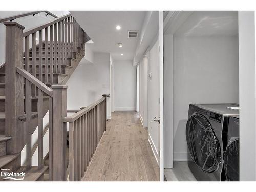
[[[148,140],[163,181],[163,12],[159,11],[159,38],[148,56]]]

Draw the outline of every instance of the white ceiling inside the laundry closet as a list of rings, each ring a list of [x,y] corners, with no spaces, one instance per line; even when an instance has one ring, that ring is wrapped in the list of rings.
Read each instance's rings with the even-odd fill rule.
[[[194,11],[175,32],[185,36],[238,34],[238,11]]]

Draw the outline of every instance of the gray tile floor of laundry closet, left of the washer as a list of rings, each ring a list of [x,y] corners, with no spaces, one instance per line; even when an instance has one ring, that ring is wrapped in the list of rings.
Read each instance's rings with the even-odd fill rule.
[[[197,181],[183,161],[175,161],[174,168],[164,169],[164,175],[167,181]]]

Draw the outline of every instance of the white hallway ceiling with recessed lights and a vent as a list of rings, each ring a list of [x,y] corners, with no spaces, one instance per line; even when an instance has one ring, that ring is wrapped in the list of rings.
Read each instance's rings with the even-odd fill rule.
[[[70,11],[94,44],[94,52],[110,53],[114,60],[132,60],[135,55],[146,11]],[[116,30],[116,25],[121,29]],[[139,30],[137,38],[127,38],[127,31]],[[121,42],[123,47],[118,47]],[[123,56],[121,56],[123,54]]]

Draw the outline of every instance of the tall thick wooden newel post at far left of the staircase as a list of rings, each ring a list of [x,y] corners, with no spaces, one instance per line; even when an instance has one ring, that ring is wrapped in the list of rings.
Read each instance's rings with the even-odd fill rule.
[[[7,144],[7,154],[20,152],[20,141],[23,139],[23,78],[16,73],[16,67],[23,68],[23,29],[16,22],[4,22],[6,26],[5,44],[5,126],[6,136],[12,139]]]

